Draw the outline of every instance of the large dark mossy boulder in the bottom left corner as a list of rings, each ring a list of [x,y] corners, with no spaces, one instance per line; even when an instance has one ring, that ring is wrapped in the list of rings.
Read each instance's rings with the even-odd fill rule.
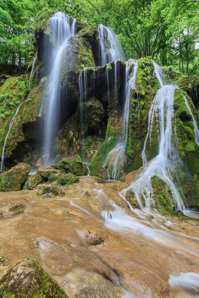
[[[68,298],[38,261],[25,259],[0,279],[1,298]]]

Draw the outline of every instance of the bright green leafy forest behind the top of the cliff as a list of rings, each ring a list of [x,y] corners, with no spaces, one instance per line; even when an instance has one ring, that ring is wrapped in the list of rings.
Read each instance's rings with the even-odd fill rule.
[[[150,57],[183,74],[199,73],[197,0],[0,0],[1,65],[27,67],[34,21],[42,9],[111,27],[126,59]]]

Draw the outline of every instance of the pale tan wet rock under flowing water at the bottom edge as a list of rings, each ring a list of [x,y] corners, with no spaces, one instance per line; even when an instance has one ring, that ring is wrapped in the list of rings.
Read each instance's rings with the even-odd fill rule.
[[[63,287],[73,298],[122,298],[124,295],[121,288],[96,272],[76,268],[68,272],[64,279]]]

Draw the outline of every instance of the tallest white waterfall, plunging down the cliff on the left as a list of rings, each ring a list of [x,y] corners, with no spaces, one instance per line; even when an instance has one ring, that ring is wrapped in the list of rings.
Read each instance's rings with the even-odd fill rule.
[[[44,155],[46,165],[53,161],[55,138],[59,130],[59,77],[62,64],[62,57],[67,48],[70,47],[69,39],[75,35],[76,20],[72,24],[68,15],[63,12],[56,12],[50,19],[50,28],[54,38],[54,55],[52,57],[52,71],[45,98],[44,118]]]

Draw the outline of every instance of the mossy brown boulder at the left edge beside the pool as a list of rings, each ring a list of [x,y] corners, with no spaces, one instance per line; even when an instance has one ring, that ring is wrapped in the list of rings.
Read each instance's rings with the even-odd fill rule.
[[[0,190],[12,191],[20,190],[22,184],[27,179],[30,171],[30,166],[26,163],[20,162],[10,170],[3,172],[0,175]]]

